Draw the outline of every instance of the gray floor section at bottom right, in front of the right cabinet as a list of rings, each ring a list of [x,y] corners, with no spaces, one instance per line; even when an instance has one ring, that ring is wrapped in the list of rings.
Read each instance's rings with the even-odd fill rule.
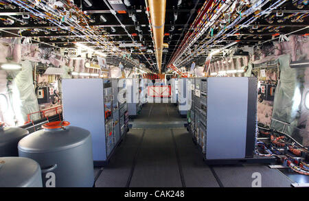
[[[214,170],[224,187],[252,187],[252,174],[255,172],[262,176],[262,187],[290,187],[292,183],[279,170],[266,165],[222,165],[214,166]]]

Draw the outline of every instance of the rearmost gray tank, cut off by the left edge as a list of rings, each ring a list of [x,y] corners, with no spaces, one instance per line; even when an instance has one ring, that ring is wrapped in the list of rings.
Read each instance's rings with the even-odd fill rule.
[[[19,156],[17,145],[29,132],[23,128],[5,127],[0,122],[0,157]]]

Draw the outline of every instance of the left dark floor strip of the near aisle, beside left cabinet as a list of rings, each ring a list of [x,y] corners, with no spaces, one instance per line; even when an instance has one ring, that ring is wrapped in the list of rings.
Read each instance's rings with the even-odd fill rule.
[[[142,129],[131,129],[117,148],[107,167],[104,167],[95,187],[126,187],[133,158],[141,139]]]

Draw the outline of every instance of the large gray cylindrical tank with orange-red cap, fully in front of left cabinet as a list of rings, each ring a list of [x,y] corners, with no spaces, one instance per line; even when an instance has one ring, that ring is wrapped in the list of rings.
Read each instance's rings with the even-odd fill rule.
[[[43,187],[93,187],[93,156],[88,130],[68,121],[45,123],[19,141],[19,156],[41,165]]]

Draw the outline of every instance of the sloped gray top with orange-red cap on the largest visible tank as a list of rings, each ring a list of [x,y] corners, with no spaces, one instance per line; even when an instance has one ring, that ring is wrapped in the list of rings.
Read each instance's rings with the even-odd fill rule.
[[[88,130],[76,127],[63,127],[61,121],[44,126],[44,130],[38,130],[19,141],[19,150],[23,152],[57,152],[82,145],[90,136]],[[58,128],[58,126],[60,128]],[[67,123],[65,123],[67,125]],[[51,128],[57,127],[57,128]]]

